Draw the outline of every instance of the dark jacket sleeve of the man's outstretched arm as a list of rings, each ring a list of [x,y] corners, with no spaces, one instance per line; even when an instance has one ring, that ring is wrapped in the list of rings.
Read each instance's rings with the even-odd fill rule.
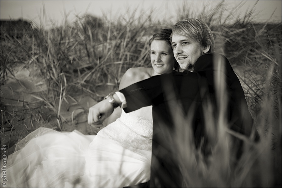
[[[196,100],[195,96],[199,92],[198,79],[196,73],[185,71],[152,76],[132,84],[120,90],[127,102],[127,108],[124,108],[124,111],[132,112],[141,107],[159,106],[178,99],[188,100],[188,104],[184,106],[189,106],[191,101]]]

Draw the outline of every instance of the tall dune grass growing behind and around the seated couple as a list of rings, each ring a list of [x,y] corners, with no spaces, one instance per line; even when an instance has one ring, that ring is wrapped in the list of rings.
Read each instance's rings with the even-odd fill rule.
[[[211,133],[217,137],[217,153],[208,168],[201,154],[190,147],[187,130],[187,134],[178,137],[180,151],[183,147],[190,148],[180,152],[180,164],[186,167],[183,173],[187,173],[184,186],[281,186],[281,23],[255,24],[253,9],[244,18],[231,22],[233,11],[238,8],[227,10],[221,2],[212,10],[205,11],[206,7],[195,13],[184,4],[176,20],[200,18],[211,27],[217,52],[226,55],[242,83],[261,141],[249,146],[238,168],[231,171],[226,152],[230,146],[224,144],[227,133],[218,129],[221,133]],[[136,18],[135,12],[114,20],[107,15],[78,16],[72,23],[66,20],[48,30],[34,24],[32,34],[21,38],[3,35],[1,84],[14,77],[18,63],[24,63],[39,70],[37,76],[43,78],[46,89],[32,93],[36,99],[33,102],[23,98],[15,105],[1,98],[1,144],[2,138],[10,138],[14,131],[20,131],[16,134],[18,138],[28,134],[34,130],[34,122],[44,126],[51,116],[55,117],[56,129],[64,130],[67,120],[60,113],[63,102],[79,104],[76,96],[81,95],[100,101],[103,97],[97,92],[100,86],[115,91],[128,68],[149,67],[150,36],[174,23],[152,21],[150,14]],[[1,33],[5,33],[2,28]],[[87,115],[88,108],[81,109]],[[219,127],[224,127],[222,122]],[[183,145],[182,138],[188,139],[185,142],[188,145]],[[191,161],[192,158],[197,160]]]

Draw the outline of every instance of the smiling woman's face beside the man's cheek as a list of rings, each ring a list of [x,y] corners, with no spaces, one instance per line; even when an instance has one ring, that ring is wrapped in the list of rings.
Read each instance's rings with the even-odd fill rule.
[[[170,73],[175,59],[173,51],[165,40],[153,40],[151,43],[151,64],[156,74]]]

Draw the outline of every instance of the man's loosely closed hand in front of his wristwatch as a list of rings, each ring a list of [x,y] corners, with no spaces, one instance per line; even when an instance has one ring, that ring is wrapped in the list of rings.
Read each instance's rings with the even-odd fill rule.
[[[93,127],[100,127],[103,121],[112,114],[113,110],[112,104],[107,99],[98,102],[89,108],[88,124]]]

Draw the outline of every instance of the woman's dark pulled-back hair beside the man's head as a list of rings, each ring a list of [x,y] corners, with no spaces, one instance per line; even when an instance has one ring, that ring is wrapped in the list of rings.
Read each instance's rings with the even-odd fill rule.
[[[149,46],[151,47],[153,40],[164,40],[170,46],[171,50],[173,51],[172,46],[171,46],[171,42],[170,42],[171,33],[172,33],[172,29],[162,29],[162,30],[160,30],[160,32],[155,33],[153,35],[153,37],[149,40]],[[179,64],[175,60],[174,69],[178,70],[178,68],[179,68]]]

